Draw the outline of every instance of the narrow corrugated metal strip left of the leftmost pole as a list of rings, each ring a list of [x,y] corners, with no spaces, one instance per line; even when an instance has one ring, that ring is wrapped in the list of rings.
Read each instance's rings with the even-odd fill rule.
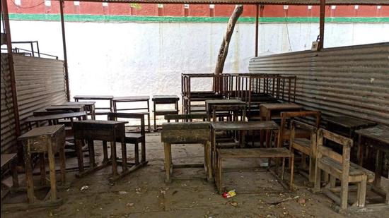
[[[1,54],[1,153],[16,144],[8,56]]]

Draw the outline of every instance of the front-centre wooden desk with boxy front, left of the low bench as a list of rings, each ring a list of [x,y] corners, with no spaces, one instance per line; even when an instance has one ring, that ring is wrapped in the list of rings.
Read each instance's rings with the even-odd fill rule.
[[[165,181],[171,182],[173,167],[199,167],[199,164],[178,165],[172,162],[172,144],[204,144],[204,169],[207,179],[211,181],[211,126],[209,122],[163,123],[161,140],[165,150]],[[200,166],[203,167],[203,166]]]

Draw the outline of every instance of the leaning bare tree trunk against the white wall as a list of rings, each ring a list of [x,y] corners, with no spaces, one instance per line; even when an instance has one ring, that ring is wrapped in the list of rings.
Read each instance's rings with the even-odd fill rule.
[[[228,26],[226,30],[226,34],[223,37],[223,41],[221,42],[220,50],[219,50],[219,55],[217,56],[217,61],[216,61],[216,68],[215,68],[215,74],[219,75],[223,73],[223,68],[224,68],[224,62],[226,61],[226,57],[228,54],[228,46],[230,45],[231,41],[231,36],[233,34],[233,29],[235,28],[236,22],[238,21],[238,18],[240,15],[243,13],[243,5],[237,5],[235,7],[235,10],[233,11],[230,20],[228,20]],[[221,92],[222,87],[221,83],[222,80],[221,78],[216,80],[218,81],[216,83],[215,89],[219,92]]]

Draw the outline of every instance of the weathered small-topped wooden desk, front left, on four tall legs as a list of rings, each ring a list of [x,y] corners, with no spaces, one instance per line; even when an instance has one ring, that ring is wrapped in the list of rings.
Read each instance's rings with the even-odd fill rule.
[[[31,163],[31,154],[40,154],[40,173],[41,183],[45,186],[46,170],[45,170],[45,153],[47,153],[49,168],[50,168],[50,201],[57,202],[57,179],[55,176],[54,155],[59,153],[59,161],[61,166],[61,181],[65,183],[65,126],[43,126],[33,128],[27,133],[19,136],[24,150],[25,161],[25,180],[27,184],[28,202],[37,202],[34,195],[33,169]]]

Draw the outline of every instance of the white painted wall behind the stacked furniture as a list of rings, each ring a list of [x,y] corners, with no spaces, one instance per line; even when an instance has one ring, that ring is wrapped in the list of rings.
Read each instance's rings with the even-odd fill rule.
[[[211,73],[226,23],[66,23],[71,95],[180,95],[181,73]],[[11,21],[13,41],[62,59],[59,22]],[[226,73],[248,72],[255,25],[239,23]],[[260,25],[260,53],[310,49],[318,23]],[[389,41],[389,23],[327,23],[325,47]],[[204,87],[204,81],[196,86]],[[209,84],[208,84],[209,85]]]

